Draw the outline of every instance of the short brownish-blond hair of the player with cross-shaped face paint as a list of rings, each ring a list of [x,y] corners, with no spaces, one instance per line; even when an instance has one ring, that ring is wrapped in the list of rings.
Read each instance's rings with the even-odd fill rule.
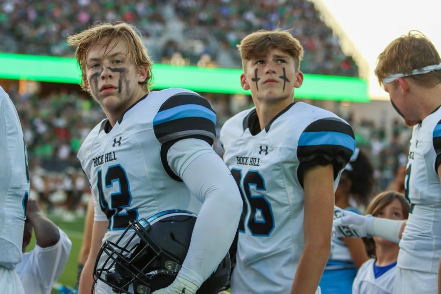
[[[258,30],[247,35],[237,45],[241,53],[242,68],[246,71],[246,62],[252,58],[264,56],[270,49],[279,49],[294,58],[295,72],[300,69],[300,61],[303,58],[303,47],[293,37],[289,30]]]

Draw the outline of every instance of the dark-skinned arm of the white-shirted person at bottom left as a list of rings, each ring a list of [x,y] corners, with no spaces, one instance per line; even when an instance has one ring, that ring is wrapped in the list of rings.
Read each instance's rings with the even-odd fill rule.
[[[40,208],[35,200],[29,199],[27,202],[26,219],[34,228],[35,239],[40,247],[53,246],[60,240],[58,227],[41,214]]]

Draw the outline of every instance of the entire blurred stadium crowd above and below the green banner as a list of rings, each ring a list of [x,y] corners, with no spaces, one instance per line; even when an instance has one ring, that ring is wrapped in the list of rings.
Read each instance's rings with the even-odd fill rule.
[[[125,21],[138,27],[156,63],[241,67],[236,45],[260,28],[292,29],[305,48],[305,73],[357,76],[340,40],[308,0],[3,0],[0,52],[73,57],[66,37],[97,21]],[[83,214],[90,187],[76,153],[104,114],[84,92],[56,89],[48,95],[10,91],[21,118],[32,176],[31,196],[65,218]],[[218,128],[250,104],[203,93],[218,114]],[[242,107],[242,109],[241,109]],[[373,121],[351,122],[357,144],[371,155],[378,190],[393,182],[406,163],[410,129]],[[392,131],[388,131],[392,129]],[[218,129],[218,133],[219,133]],[[391,135],[392,134],[392,135]],[[221,155],[218,141],[214,148]],[[67,213],[66,213],[67,212]]]

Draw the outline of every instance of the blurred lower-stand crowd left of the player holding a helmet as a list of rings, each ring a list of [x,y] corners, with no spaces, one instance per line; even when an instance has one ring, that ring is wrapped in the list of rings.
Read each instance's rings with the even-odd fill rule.
[[[30,174],[30,196],[50,213],[73,220],[84,215],[89,183],[76,153],[103,113],[86,96],[57,90],[47,96],[9,92],[22,123]]]

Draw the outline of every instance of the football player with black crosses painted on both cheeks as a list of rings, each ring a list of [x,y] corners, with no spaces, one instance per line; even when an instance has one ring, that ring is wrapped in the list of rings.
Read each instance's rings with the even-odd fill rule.
[[[255,107],[221,129],[224,161],[244,201],[231,293],[320,293],[334,191],[355,149],[352,128],[293,102],[303,48],[289,31],[260,30],[238,48],[242,88]]]

